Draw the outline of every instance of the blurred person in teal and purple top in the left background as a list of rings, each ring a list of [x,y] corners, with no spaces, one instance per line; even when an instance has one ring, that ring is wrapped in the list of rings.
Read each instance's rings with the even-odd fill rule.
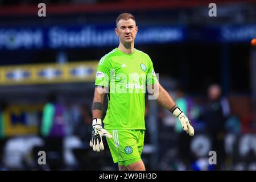
[[[64,106],[51,94],[43,109],[41,134],[45,139],[50,169],[63,167],[63,138],[65,137]]]

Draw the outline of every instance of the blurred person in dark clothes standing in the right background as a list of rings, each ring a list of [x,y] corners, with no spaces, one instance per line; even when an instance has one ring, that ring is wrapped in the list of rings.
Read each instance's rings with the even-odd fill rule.
[[[228,100],[221,95],[220,85],[213,84],[208,88],[208,103],[204,107],[203,121],[212,140],[212,150],[217,152],[216,169],[221,169],[225,160],[224,134],[225,121],[229,116]]]

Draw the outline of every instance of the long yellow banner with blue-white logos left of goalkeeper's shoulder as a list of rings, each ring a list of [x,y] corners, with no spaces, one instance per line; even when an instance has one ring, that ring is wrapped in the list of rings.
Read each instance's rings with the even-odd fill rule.
[[[0,86],[94,81],[98,61],[0,67]]]

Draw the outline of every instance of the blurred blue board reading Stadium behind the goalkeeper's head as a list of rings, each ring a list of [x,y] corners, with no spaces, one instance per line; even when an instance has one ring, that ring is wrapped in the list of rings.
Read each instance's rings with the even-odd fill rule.
[[[182,42],[181,26],[140,27],[137,44]],[[118,45],[118,37],[110,26],[0,27],[0,49],[85,48]]]

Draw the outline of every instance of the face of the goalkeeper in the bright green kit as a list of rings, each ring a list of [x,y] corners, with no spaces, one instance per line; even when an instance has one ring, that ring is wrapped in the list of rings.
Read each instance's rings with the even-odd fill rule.
[[[134,42],[137,31],[138,27],[133,19],[121,19],[117,23],[117,28],[115,28],[115,34],[119,36],[120,42],[122,43]]]

